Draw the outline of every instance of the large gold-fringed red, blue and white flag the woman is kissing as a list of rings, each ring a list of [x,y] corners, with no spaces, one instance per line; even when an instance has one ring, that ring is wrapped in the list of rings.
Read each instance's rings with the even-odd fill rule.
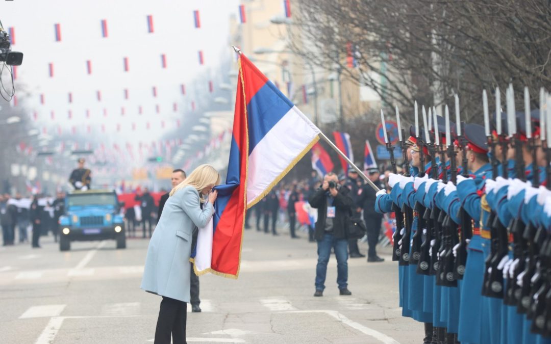
[[[199,229],[194,269],[236,279],[245,211],[260,201],[308,152],[320,130],[244,55],[226,184],[209,225]]]

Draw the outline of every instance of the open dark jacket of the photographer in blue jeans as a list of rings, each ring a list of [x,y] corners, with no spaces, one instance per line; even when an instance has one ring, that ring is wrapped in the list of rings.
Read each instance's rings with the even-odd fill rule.
[[[325,224],[327,217],[327,195],[328,190],[319,188],[308,199],[308,203],[312,208],[317,209],[317,221],[315,225],[315,237],[316,240],[323,239],[325,234]],[[335,207],[335,217],[333,219],[333,236],[337,239],[346,238],[346,232],[344,224],[347,216],[349,216],[350,209],[354,203],[352,198],[348,195],[348,188],[339,188],[337,196],[333,198],[333,206]]]

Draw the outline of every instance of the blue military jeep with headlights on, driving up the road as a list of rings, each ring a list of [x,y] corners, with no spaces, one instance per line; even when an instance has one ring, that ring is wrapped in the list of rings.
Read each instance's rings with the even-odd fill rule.
[[[120,204],[114,190],[69,192],[65,214],[60,217],[60,250],[71,249],[72,241],[115,239],[117,248],[126,248],[125,223],[118,214]]]

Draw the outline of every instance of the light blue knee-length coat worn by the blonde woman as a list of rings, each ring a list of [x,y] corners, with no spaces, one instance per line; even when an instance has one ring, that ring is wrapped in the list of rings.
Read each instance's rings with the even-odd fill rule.
[[[193,228],[202,228],[214,214],[191,186],[178,190],[165,203],[147,249],[141,288],[147,292],[190,302],[190,256]]]

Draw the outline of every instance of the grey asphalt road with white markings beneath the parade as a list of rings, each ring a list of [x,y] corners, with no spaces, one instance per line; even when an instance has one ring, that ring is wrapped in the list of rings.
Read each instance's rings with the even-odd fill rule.
[[[201,276],[202,313],[188,313],[187,342],[419,343],[402,318],[397,263],[349,259],[352,296],[339,296],[334,256],[323,297],[313,297],[316,244],[246,231],[239,279]],[[139,289],[147,239],[0,248],[0,343],[153,342],[160,297]],[[360,248],[365,253],[366,244]]]

